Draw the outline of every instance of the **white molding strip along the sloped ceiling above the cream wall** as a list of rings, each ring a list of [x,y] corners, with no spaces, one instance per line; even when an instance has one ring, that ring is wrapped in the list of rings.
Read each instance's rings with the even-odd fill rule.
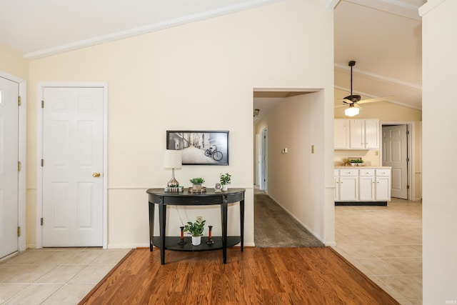
[[[198,14],[192,14],[189,16],[183,16],[175,19],[170,19],[167,21],[157,22],[155,24],[149,24],[146,26],[139,26],[134,29],[129,29],[126,31],[119,31],[114,34],[107,34],[102,36],[96,36],[91,39],[84,39],[81,41],[71,42],[70,44],[63,44],[61,46],[55,46],[49,49],[43,49],[39,51],[34,51],[24,54],[26,59],[40,59],[46,56],[52,56],[56,54],[61,54],[68,51],[74,51],[76,49],[86,48],[88,46],[95,46],[97,44],[104,44],[109,41],[116,41],[119,39],[125,39],[132,36],[138,36],[141,34],[146,34],[154,31],[160,31],[163,29],[169,29],[174,26],[181,26],[183,24],[189,24],[195,21],[201,21],[205,19],[214,18],[217,16],[222,16],[226,14],[236,13],[238,11],[245,11],[247,9],[254,9],[258,6],[263,6],[266,4],[272,4],[283,0],[251,0],[246,1],[241,4],[234,4],[231,6],[225,6],[219,9],[213,9],[211,11],[204,11]]]

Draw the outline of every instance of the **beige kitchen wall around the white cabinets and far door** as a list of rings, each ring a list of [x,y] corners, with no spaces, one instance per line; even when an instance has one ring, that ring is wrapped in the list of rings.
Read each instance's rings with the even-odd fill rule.
[[[343,99],[344,96],[348,96],[348,91],[335,89],[335,101],[337,104],[342,104],[338,99]],[[362,96],[362,99],[368,99],[367,96]],[[411,109],[405,106],[392,104],[386,101],[361,104],[362,110],[360,114],[356,116],[357,119],[379,119],[382,123],[387,122],[413,122],[414,124],[414,139],[413,139],[413,162],[414,162],[414,180],[415,184],[415,196],[414,199],[422,198],[422,153],[421,153],[421,141],[422,141],[422,111]],[[335,119],[345,119],[344,108],[339,107],[335,109]],[[333,161],[341,162],[347,159],[348,156],[361,156],[364,161],[370,161],[371,165],[378,166],[382,165],[381,151],[378,150],[346,150],[336,149]]]

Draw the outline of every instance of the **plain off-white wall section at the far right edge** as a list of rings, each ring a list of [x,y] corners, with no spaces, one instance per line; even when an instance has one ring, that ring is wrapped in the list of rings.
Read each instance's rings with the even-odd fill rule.
[[[446,166],[436,166],[441,151],[457,151],[457,1],[439,2],[421,8],[423,304],[457,304],[457,166],[452,157]]]

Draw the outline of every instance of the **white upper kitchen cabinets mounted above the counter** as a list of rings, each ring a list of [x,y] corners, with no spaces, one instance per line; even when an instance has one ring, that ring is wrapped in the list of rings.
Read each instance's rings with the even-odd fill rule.
[[[335,119],[335,149],[379,149],[378,119]]]

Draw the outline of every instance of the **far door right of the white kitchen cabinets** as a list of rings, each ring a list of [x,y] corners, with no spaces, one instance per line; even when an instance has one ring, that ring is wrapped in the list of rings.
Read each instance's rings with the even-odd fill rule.
[[[383,127],[383,166],[392,167],[391,196],[408,199],[408,128]]]

